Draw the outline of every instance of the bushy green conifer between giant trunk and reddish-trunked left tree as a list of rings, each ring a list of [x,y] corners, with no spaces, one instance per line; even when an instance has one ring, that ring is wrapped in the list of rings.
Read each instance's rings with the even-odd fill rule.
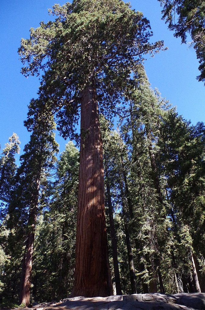
[[[35,300],[68,296],[74,282],[79,151],[66,144],[50,184],[50,201],[37,226],[32,295]]]

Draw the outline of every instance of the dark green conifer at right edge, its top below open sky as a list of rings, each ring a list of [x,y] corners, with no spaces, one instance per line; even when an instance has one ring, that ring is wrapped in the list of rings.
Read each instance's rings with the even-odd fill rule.
[[[197,275],[197,261],[195,259],[195,264],[193,255],[204,255],[204,125],[198,123],[196,126],[190,126],[190,122],[177,113],[168,113],[161,126],[159,145],[159,156],[164,163],[167,178],[170,216],[178,235],[178,243],[181,246],[183,244],[184,248],[181,249],[179,244],[176,244],[176,247],[185,250],[183,256],[181,253],[177,256],[180,259],[186,258],[186,273],[193,273],[193,281],[188,281],[189,290],[197,292],[197,278],[201,275],[199,270]],[[186,246],[181,231],[185,231],[188,236]],[[181,270],[183,268],[182,265]]]

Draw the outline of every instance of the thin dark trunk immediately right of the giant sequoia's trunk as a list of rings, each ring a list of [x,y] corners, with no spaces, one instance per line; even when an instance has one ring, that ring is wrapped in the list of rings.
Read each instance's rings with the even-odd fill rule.
[[[105,171],[106,171],[106,169],[105,169]],[[121,283],[120,283],[120,272],[119,272],[118,257],[117,257],[116,232],[115,232],[114,220],[113,220],[110,184],[109,184],[108,180],[106,182],[106,189],[107,189],[107,206],[108,206],[108,211],[109,211],[110,234],[111,234],[111,244],[112,244],[112,258],[113,258],[113,267],[114,267],[114,274],[115,274],[116,294],[122,295],[122,289],[121,289]]]

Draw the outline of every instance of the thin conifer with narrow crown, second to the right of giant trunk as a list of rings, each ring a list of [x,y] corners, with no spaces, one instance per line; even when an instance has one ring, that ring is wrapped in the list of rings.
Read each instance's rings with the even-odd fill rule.
[[[103,119],[103,118],[102,118]],[[129,282],[130,286],[128,292],[132,294],[136,294],[136,279],[135,279],[135,269],[133,262],[133,252],[132,252],[132,244],[130,239],[129,232],[129,199],[127,199],[126,193],[126,185],[124,182],[125,176],[125,167],[122,164],[123,157],[125,153],[124,145],[121,141],[121,137],[116,131],[111,131],[108,126],[108,123],[103,120],[102,121],[102,136],[103,136],[103,148],[105,153],[105,170],[106,170],[106,188],[107,195],[111,195],[112,191],[118,192],[117,197],[110,197],[111,200],[115,200],[116,208],[118,208],[118,212],[120,212],[122,218],[122,230],[124,233],[124,241],[125,241],[125,252],[126,252],[126,260],[128,263],[128,272],[129,272]],[[106,139],[107,138],[107,139]],[[109,155],[108,155],[109,154]],[[126,179],[126,178],[125,178]],[[108,183],[109,180],[109,183]],[[114,260],[113,260],[114,261]],[[124,276],[124,275],[121,275]],[[127,291],[127,288],[123,288],[124,291]]]

